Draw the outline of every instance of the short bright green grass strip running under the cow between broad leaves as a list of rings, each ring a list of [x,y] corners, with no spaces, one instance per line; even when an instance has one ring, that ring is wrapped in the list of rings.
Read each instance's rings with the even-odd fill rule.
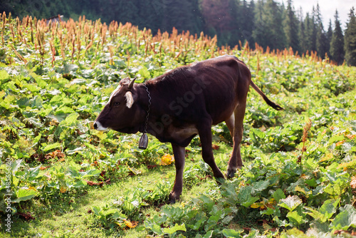
[[[226,143],[216,143],[219,150],[214,150],[216,163],[221,171],[226,170],[229,161],[229,153],[232,148]],[[199,152],[189,152],[186,159],[185,173],[197,164],[203,163]],[[226,165],[224,165],[226,164]],[[31,213],[34,219],[23,219],[16,215],[16,222],[11,227],[11,236],[4,232],[4,237],[36,237],[38,234],[46,234],[49,237],[145,237],[147,230],[126,229],[124,231],[115,229],[103,229],[100,224],[96,224],[93,214],[90,212],[93,205],[105,206],[117,197],[124,194],[127,189],[142,185],[150,190],[158,181],[171,182],[173,185],[175,169],[174,165],[157,166],[151,170],[147,167],[140,167],[142,173],[137,176],[125,177],[110,185],[98,187],[88,187],[74,194],[60,194],[48,200],[31,200],[23,204],[23,209]],[[183,188],[181,200],[177,205],[184,205],[193,198],[209,192],[218,190],[218,186],[211,177],[194,177],[194,182],[187,184]],[[166,201],[164,204],[167,204]],[[142,211],[142,216],[154,216],[159,214],[159,207],[146,207]],[[142,221],[139,222],[142,225]],[[236,224],[237,225],[237,224]],[[232,225],[231,225],[232,226]]]

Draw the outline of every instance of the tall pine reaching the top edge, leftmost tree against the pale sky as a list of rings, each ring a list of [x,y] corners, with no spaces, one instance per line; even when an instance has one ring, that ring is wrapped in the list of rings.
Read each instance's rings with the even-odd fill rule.
[[[298,36],[298,19],[292,9],[292,0],[288,0],[284,33],[286,34],[286,46],[292,47],[294,51],[300,51]]]

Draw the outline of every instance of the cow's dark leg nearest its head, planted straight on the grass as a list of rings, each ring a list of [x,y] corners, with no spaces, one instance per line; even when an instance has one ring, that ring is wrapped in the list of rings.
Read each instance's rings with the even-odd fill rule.
[[[176,166],[176,178],[174,180],[173,190],[169,194],[169,202],[174,203],[176,200],[179,200],[179,196],[182,194],[185,148],[172,143],[172,149],[174,165]]]

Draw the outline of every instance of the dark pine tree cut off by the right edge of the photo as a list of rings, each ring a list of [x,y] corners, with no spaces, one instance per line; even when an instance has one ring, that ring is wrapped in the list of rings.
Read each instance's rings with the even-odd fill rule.
[[[345,60],[349,66],[356,66],[356,16],[352,7],[345,31]]]

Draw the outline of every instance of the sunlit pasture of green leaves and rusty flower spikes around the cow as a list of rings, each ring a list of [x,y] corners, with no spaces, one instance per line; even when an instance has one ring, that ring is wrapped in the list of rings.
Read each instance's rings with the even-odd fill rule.
[[[216,46],[201,34],[0,17],[1,237],[352,237],[356,235],[356,68],[315,53]],[[120,79],[143,82],[224,54],[285,110],[248,94],[244,167],[218,185],[187,148],[181,200],[168,204],[168,144],[93,130]],[[154,105],[152,105],[154,106]],[[212,128],[226,170],[231,137]]]

